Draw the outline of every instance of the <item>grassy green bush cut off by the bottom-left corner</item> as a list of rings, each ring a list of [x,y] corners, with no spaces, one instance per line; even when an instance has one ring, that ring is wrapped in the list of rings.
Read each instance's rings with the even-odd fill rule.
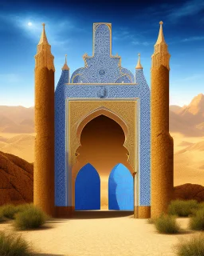
[[[16,234],[0,232],[0,255],[2,256],[29,256],[29,245]]]

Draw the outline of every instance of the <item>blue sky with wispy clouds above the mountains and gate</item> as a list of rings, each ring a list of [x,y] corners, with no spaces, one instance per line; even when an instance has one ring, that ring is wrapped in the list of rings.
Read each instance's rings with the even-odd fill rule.
[[[18,3],[17,3],[18,2]],[[187,105],[204,93],[204,0],[188,1],[1,1],[0,105],[34,105],[34,58],[41,22],[55,57],[55,84],[68,55],[71,74],[92,55],[92,23],[112,23],[112,54],[135,74],[138,53],[150,85],[151,54],[159,21],[171,54],[170,103]],[[32,22],[32,26],[28,23]]]

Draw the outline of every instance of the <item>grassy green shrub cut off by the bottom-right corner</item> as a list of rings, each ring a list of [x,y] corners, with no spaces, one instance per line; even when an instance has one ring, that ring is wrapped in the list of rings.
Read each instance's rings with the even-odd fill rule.
[[[204,255],[204,235],[191,237],[175,246],[178,256],[203,256]]]

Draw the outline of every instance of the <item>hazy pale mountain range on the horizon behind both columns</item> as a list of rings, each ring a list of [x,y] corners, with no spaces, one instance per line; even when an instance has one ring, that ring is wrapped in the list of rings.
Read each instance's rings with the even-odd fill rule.
[[[204,136],[204,94],[195,96],[188,106],[170,106],[170,132]],[[34,133],[34,107],[0,106],[0,133]]]

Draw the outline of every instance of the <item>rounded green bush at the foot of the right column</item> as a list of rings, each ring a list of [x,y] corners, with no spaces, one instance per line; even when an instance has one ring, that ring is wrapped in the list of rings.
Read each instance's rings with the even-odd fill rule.
[[[180,231],[180,226],[176,223],[175,216],[164,214],[155,219],[155,227],[161,234],[177,234]]]

